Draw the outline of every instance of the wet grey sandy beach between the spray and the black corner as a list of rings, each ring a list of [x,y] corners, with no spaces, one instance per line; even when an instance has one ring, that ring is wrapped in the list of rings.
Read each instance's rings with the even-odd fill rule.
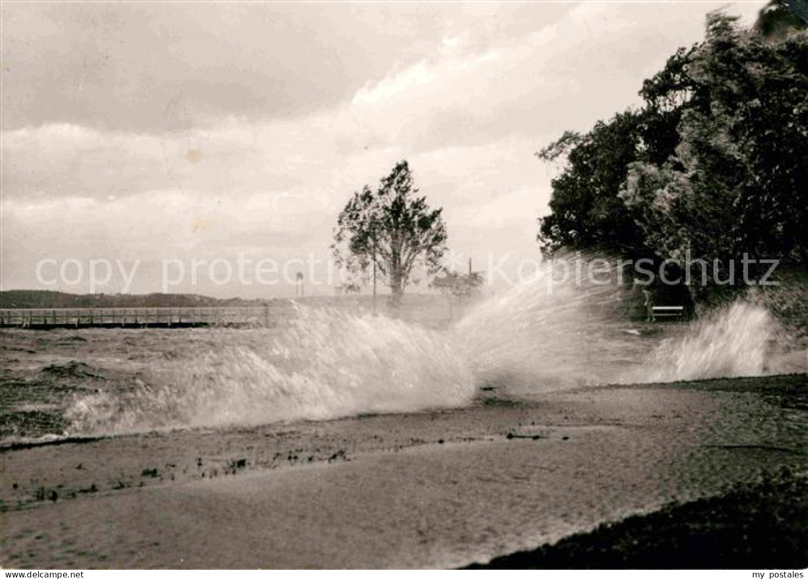
[[[805,375],[490,391],[452,411],[6,444],[0,564],[485,562],[808,472],[806,397]]]

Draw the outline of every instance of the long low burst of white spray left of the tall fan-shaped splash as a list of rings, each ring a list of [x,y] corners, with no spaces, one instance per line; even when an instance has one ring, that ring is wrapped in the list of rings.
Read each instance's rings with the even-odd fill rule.
[[[78,432],[250,425],[467,405],[473,376],[445,334],[369,313],[298,307],[276,329],[213,330],[213,345],[127,392],[76,401]]]

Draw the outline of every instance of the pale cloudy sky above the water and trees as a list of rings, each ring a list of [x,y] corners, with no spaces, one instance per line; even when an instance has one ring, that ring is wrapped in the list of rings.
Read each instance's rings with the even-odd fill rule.
[[[447,265],[511,283],[537,149],[636,107],[709,10],[762,6],[3,2],[0,288],[330,294],[336,216],[401,159]]]

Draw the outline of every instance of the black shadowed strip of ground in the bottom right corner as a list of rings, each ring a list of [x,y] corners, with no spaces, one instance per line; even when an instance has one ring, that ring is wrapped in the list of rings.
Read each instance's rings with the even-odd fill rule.
[[[806,569],[808,472],[603,523],[464,569]],[[659,532],[664,529],[665,532]],[[773,564],[772,564],[773,563]]]

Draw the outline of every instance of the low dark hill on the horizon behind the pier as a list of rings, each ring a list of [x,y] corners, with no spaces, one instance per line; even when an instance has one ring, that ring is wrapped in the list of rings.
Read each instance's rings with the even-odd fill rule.
[[[220,300],[196,294],[72,294],[43,290],[0,292],[0,308],[192,308],[261,305],[271,300]]]

